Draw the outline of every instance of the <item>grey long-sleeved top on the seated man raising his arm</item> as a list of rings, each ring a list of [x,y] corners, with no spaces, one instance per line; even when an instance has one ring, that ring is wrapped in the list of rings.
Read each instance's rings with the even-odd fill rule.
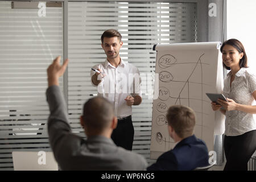
[[[63,170],[144,170],[143,156],[115,146],[112,139],[97,136],[87,140],[75,135],[68,123],[67,107],[59,86],[46,91],[51,114],[48,118],[49,143]]]

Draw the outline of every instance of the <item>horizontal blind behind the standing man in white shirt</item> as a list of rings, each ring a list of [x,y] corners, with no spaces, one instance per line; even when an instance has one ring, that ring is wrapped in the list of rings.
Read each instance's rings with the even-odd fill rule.
[[[122,34],[120,55],[141,72],[143,101],[133,106],[135,137],[133,151],[150,160],[152,85],[157,43],[196,42],[196,3],[69,2],[68,3],[68,112],[74,131],[79,127],[82,106],[97,95],[90,83],[90,68],[106,55],[101,35],[110,28]]]

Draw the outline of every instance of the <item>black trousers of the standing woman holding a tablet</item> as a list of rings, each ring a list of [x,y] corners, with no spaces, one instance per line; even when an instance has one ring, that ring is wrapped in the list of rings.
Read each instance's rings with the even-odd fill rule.
[[[247,163],[256,150],[256,130],[224,137],[226,165],[224,171],[247,171]]]

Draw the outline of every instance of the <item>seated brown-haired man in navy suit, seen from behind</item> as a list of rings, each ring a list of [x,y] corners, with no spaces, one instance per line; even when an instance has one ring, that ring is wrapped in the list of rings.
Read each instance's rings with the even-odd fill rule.
[[[208,149],[203,140],[193,135],[195,112],[186,106],[174,105],[167,111],[168,132],[176,146],[159,156],[147,170],[176,171],[193,170],[209,166]]]

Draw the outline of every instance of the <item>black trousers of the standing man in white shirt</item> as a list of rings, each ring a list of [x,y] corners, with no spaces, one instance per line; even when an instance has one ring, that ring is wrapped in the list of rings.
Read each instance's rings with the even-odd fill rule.
[[[134,127],[131,115],[118,119],[117,128],[113,130],[111,138],[117,146],[126,150],[133,149]]]

